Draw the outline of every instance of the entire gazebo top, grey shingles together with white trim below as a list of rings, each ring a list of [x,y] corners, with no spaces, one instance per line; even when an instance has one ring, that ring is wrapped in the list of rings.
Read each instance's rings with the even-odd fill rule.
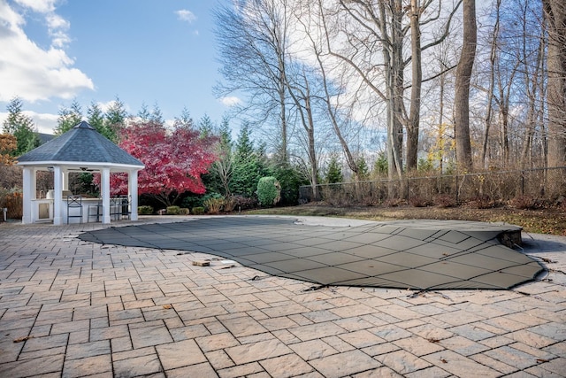
[[[103,167],[110,167],[113,172],[143,168],[140,160],[120,149],[85,121],[20,156],[18,165],[43,169],[65,166],[68,170],[86,172]]]

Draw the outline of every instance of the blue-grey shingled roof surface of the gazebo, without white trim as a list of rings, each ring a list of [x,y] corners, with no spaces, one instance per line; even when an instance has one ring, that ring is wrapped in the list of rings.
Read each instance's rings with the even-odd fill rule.
[[[18,162],[22,166],[28,165],[26,163],[38,162],[88,162],[143,166],[140,160],[120,149],[85,121],[80,122],[65,134],[20,156]]]

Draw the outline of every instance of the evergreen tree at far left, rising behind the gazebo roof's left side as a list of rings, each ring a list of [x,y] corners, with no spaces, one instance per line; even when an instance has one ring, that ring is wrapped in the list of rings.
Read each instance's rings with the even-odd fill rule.
[[[12,98],[7,106],[8,117],[3,124],[4,133],[16,137],[17,147],[10,152],[13,157],[34,150],[41,143],[39,135],[35,132],[34,120],[22,112],[22,107],[23,103],[19,97]]]

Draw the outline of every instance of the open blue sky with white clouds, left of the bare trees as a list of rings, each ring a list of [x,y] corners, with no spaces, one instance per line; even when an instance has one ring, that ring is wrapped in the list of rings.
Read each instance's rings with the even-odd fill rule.
[[[157,104],[220,122],[236,98],[220,80],[212,9],[229,0],[0,0],[0,123],[14,96],[41,133],[61,106],[87,114],[117,96],[127,112]]]

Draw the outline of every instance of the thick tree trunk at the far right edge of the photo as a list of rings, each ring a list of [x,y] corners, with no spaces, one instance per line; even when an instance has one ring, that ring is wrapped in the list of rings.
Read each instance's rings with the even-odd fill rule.
[[[566,162],[566,4],[543,0],[548,30],[548,166]]]

